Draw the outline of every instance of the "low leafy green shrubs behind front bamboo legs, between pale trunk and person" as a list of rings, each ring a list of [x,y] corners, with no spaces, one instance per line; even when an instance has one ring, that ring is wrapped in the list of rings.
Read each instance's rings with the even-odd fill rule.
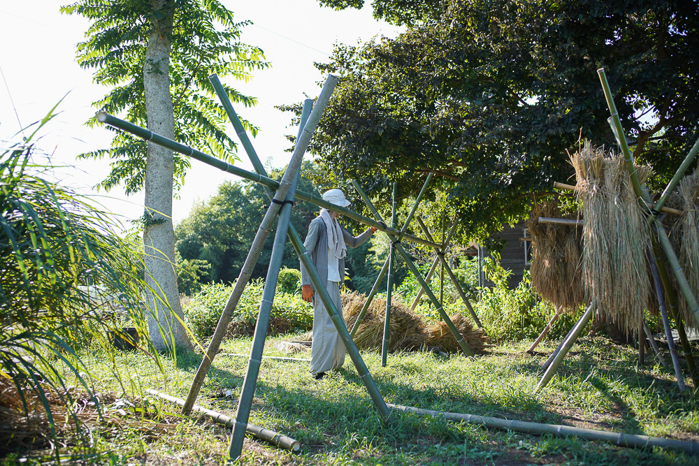
[[[290,269],[293,270],[293,269]],[[201,291],[189,299],[185,307],[185,322],[199,338],[213,335],[234,285],[205,284]],[[250,336],[254,332],[264,281],[254,279],[243,291],[229,325],[230,335]],[[276,293],[271,312],[271,335],[307,331],[313,326],[312,307],[297,295]]]

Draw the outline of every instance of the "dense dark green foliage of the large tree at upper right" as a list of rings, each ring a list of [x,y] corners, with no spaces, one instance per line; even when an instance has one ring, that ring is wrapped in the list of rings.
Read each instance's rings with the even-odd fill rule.
[[[358,7],[359,0],[322,0]],[[343,79],[312,146],[340,182],[389,198],[426,173],[484,238],[572,174],[579,137],[613,144],[597,69],[610,80],[634,156],[668,179],[698,136],[699,10],[689,0],[381,1],[408,30],[338,46]],[[297,106],[298,108],[298,106]],[[438,198],[431,194],[432,198]],[[430,198],[430,196],[428,196]]]

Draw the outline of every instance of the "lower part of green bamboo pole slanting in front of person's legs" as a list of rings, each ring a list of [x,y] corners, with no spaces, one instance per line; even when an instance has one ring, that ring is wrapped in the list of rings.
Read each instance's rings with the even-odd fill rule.
[[[308,251],[306,251],[305,247],[303,247],[303,242],[298,236],[298,233],[296,233],[296,228],[294,228],[293,225],[289,226],[289,233],[291,236],[291,245],[294,246],[294,250],[296,251],[296,254],[298,254],[298,258],[301,259],[301,262],[303,262],[303,266],[308,272],[308,276],[310,277],[310,281],[315,288],[315,292],[322,300],[331,321],[338,330],[340,339],[343,340],[343,343],[345,344],[347,354],[349,354],[349,358],[352,359],[352,363],[354,363],[354,367],[356,367],[356,371],[359,374],[359,379],[361,379],[362,383],[366,387],[366,391],[368,391],[369,396],[384,423],[389,423],[391,421],[391,413],[389,412],[386,402],[384,402],[384,398],[381,396],[374,379],[371,377],[366,364],[361,358],[359,350],[356,349],[356,345],[354,344],[354,341],[352,341],[352,337],[349,336],[347,326],[345,326],[345,320],[342,318],[342,316],[340,316],[338,310],[336,309],[335,303],[333,303],[333,300],[330,298],[328,290],[325,288],[325,284],[321,281],[320,275],[318,275],[318,271],[311,262]]]

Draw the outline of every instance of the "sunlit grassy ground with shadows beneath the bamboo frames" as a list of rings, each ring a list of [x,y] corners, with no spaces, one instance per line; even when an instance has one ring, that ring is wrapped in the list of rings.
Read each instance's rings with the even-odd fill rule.
[[[265,354],[288,356],[269,340]],[[224,343],[222,351],[246,354],[250,340]],[[538,368],[552,345],[535,356],[530,342],[494,347],[476,358],[442,358],[431,352],[363,353],[384,399],[399,405],[500,418],[575,425],[699,442],[695,398],[680,395],[672,377],[649,363],[637,367],[635,351],[610,340],[581,340],[552,382],[538,394]],[[308,358],[310,354],[294,354]],[[161,465],[225,463],[229,430],[208,419],[183,418],[178,409],[145,395],[154,388],[185,398],[200,355],[180,355],[160,373],[150,358],[122,353],[117,365],[101,354],[86,357],[102,374],[96,381],[108,416],[92,429],[94,449],[87,463]],[[235,416],[246,358],[219,356],[199,404]],[[113,369],[120,373],[115,377]],[[118,381],[121,379],[121,382]],[[124,391],[136,407],[122,398]],[[147,415],[146,415],[147,414]],[[488,430],[443,419],[398,413],[382,425],[356,370],[345,367],[322,381],[311,379],[307,363],[266,359],[261,367],[250,423],[301,442],[289,453],[247,438],[242,464],[280,465],[694,465],[699,460],[663,449],[624,449],[610,444]],[[110,420],[111,419],[111,420]],[[76,453],[68,446],[64,453]],[[10,455],[4,463],[22,460]],[[28,463],[34,460],[29,458]],[[3,463],[0,460],[0,463]]]

